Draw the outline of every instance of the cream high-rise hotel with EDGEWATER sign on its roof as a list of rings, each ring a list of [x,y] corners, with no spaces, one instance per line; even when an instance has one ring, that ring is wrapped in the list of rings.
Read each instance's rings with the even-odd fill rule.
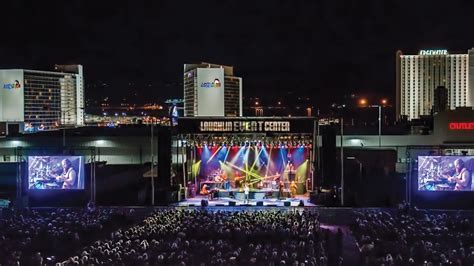
[[[417,55],[396,53],[397,118],[431,115],[435,89],[447,89],[447,109],[473,106],[474,49],[467,54],[447,50],[421,50]]]

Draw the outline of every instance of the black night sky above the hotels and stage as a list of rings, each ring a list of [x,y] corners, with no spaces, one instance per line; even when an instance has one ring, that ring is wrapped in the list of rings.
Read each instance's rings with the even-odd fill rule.
[[[474,47],[472,1],[17,0],[2,10],[0,68],[80,63],[88,84],[108,84],[87,97],[182,97],[183,63],[206,61],[234,65],[245,96],[393,99],[397,49]]]

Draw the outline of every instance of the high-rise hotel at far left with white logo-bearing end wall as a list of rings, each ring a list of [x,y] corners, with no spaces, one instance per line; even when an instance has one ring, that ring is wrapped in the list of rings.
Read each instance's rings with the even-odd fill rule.
[[[0,123],[26,132],[83,126],[82,65],[0,70]]]

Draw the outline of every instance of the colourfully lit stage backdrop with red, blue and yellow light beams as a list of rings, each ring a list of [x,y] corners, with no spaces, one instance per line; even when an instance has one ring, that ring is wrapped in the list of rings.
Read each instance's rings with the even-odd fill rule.
[[[252,188],[274,188],[281,180],[305,184],[308,177],[310,149],[285,146],[207,146],[198,147],[192,167],[199,182],[228,179],[232,188],[248,182]],[[230,188],[230,187],[229,187]]]

